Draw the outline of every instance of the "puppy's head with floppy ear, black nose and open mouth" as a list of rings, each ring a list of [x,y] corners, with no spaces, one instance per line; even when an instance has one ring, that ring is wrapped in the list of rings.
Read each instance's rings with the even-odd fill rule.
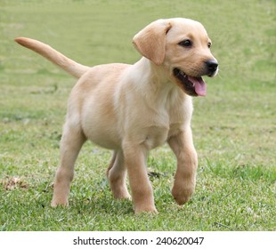
[[[210,52],[211,40],[198,21],[156,20],[134,36],[135,48],[191,96],[206,95],[202,76],[215,76],[218,63]]]

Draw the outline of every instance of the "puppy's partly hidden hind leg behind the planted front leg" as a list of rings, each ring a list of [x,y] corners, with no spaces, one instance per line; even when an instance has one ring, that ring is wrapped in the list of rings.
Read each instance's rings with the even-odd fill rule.
[[[107,177],[110,182],[110,189],[115,198],[131,198],[126,188],[126,166],[124,164],[124,155],[122,151],[113,152],[113,157],[107,171]]]

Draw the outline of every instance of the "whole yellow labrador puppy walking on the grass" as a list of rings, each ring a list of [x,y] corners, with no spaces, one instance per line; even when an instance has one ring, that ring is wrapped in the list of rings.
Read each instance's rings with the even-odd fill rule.
[[[195,20],[156,20],[134,36],[142,59],[89,68],[33,39],[15,41],[78,78],[69,97],[61,165],[52,205],[68,205],[77,155],[86,140],[112,149],[107,171],[115,198],[131,198],[134,212],[157,213],[147,174],[150,149],[167,142],[177,157],[172,194],[186,203],[196,185],[198,157],[191,134],[191,96],[206,95],[201,76],[215,76],[211,40]],[[131,196],[126,188],[129,177]]]

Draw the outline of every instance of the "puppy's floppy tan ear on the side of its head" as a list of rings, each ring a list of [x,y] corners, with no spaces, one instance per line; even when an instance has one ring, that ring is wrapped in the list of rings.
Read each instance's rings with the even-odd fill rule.
[[[171,28],[168,20],[151,22],[134,36],[134,47],[156,65],[161,65],[165,59],[166,33]]]

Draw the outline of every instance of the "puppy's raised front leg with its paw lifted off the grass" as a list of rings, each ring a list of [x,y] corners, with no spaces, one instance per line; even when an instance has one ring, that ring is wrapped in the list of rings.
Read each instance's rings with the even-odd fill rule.
[[[179,205],[185,204],[193,194],[196,186],[198,156],[194,149],[191,128],[170,137],[167,141],[177,158],[173,197]]]

